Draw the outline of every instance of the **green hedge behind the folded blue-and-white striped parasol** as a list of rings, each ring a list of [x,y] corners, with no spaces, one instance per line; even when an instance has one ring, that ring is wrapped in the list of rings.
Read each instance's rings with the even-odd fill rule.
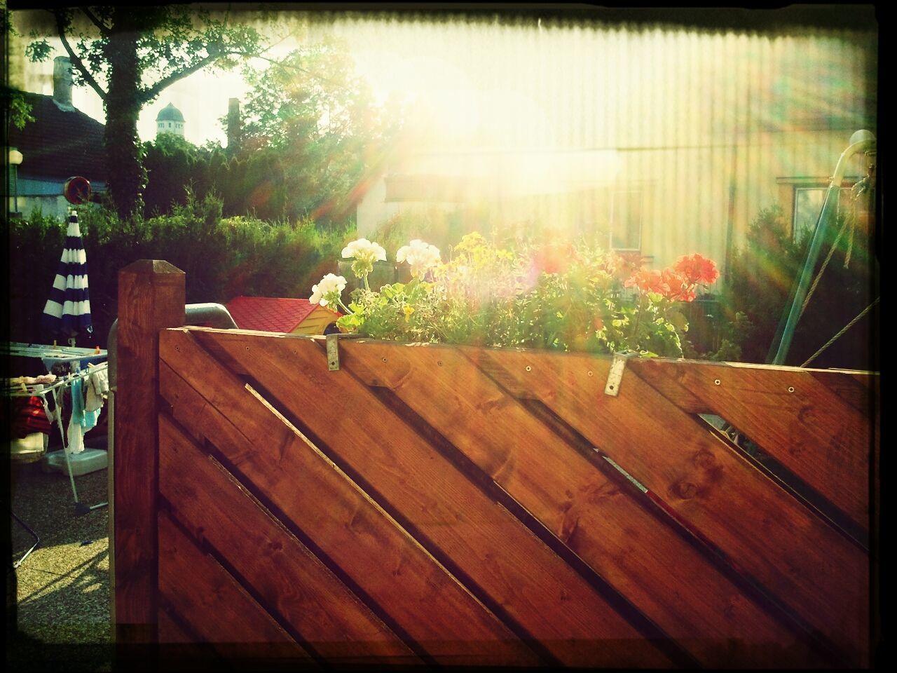
[[[187,303],[228,302],[239,294],[308,297],[354,233],[315,223],[222,217],[222,202],[187,196],[170,215],[119,220],[105,209],[79,210],[87,253],[92,335],[77,345],[105,347],[118,315],[118,271],[138,259],[164,259],[187,274]],[[48,343],[40,314],[65,243],[65,223],[39,212],[10,223],[10,330],[13,341]]]

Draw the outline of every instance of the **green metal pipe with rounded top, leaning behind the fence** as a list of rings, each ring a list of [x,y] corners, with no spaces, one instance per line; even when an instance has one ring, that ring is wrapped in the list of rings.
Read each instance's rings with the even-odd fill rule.
[[[854,141],[855,139],[856,142],[852,142],[849,147],[841,153],[840,158],[838,159],[838,164],[835,166],[835,173],[832,176],[832,181],[829,183],[829,188],[825,192],[823,208],[819,212],[819,219],[816,220],[813,240],[810,242],[810,249],[806,253],[806,261],[804,262],[804,268],[800,274],[800,280],[797,283],[797,291],[794,293],[794,300],[791,302],[790,310],[788,310],[788,321],[785,323],[785,329],[782,330],[779,350],[772,359],[772,364],[784,364],[785,358],[788,357],[788,349],[791,347],[791,338],[794,337],[794,330],[797,328],[797,320],[800,318],[800,310],[804,305],[806,293],[810,289],[810,282],[813,278],[816,261],[819,259],[819,253],[823,247],[825,234],[828,232],[829,224],[832,222],[832,209],[838,202],[838,194],[841,181],[844,179],[844,171],[847,170],[847,162],[850,157],[855,154],[875,150],[875,136],[870,132],[858,131],[850,136],[851,141]]]

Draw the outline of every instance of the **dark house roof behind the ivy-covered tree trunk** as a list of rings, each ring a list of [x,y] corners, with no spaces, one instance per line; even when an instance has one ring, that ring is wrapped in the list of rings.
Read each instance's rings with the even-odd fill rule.
[[[34,121],[22,129],[11,126],[6,141],[22,153],[19,175],[64,180],[80,175],[105,181],[106,127],[81,110],[59,109],[52,96],[30,92],[22,95],[31,106]]]

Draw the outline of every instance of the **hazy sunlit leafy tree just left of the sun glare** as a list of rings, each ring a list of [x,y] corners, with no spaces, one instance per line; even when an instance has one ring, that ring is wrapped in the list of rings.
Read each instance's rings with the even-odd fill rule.
[[[279,155],[284,214],[341,225],[366,170],[383,162],[401,116],[375,103],[343,41],[325,37],[264,70],[247,67],[243,155]]]

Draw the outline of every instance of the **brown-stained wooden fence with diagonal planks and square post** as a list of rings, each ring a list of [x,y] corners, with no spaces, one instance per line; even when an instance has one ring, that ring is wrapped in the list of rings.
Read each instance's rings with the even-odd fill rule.
[[[877,375],[631,359],[614,396],[606,356],[361,339],[330,371],[323,339],[178,327],[164,263],[120,288],[120,645],[870,663]]]

